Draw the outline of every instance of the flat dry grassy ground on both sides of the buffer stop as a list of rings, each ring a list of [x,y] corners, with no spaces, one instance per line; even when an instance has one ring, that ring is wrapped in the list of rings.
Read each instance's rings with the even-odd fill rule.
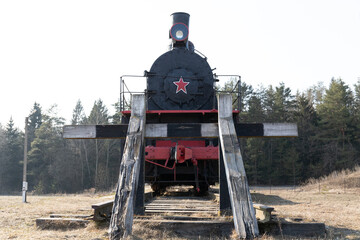
[[[360,239],[360,194],[356,189],[338,191],[320,189],[255,188],[254,202],[275,208],[274,214],[287,218],[301,218],[309,222],[324,222],[327,239]],[[112,199],[110,193],[78,195],[0,196],[0,239],[107,239],[106,224],[91,222],[86,228],[75,230],[40,230],[35,220],[53,213],[91,214],[91,205]],[[278,239],[279,236],[261,236]],[[159,231],[155,224],[135,224],[131,239],[185,239],[172,232]],[[205,239],[194,235],[194,239]],[[217,239],[213,236],[212,239]],[[294,238],[293,238],[294,239]],[[300,239],[300,238],[299,238]],[[303,239],[303,238],[302,238]]]

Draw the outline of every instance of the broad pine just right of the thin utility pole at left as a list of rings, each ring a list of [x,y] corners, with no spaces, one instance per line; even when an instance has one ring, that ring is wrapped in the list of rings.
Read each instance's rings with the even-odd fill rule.
[[[72,159],[66,140],[62,138],[63,118],[52,106],[35,130],[29,151],[31,189],[36,193],[76,192],[81,189],[81,169]]]

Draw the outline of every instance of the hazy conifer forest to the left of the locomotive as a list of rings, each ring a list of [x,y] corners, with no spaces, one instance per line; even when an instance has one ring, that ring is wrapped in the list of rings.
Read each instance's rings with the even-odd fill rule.
[[[118,104],[114,107],[118,109]],[[119,111],[117,111],[119,112]],[[118,178],[121,161],[120,140],[63,139],[65,120],[57,116],[56,105],[46,113],[35,103],[28,116],[29,190],[42,193],[73,193],[84,189],[107,190]],[[71,124],[117,124],[119,113],[109,115],[101,99],[88,116],[79,100]],[[0,125],[0,193],[21,190],[24,133],[13,120]]]

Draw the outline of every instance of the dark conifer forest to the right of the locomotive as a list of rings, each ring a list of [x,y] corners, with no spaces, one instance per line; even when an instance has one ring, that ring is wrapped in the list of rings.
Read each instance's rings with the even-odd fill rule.
[[[232,89],[234,81],[225,85]],[[360,163],[360,81],[342,80],[293,94],[284,83],[253,89],[243,83],[242,122],[294,122],[297,138],[240,140],[250,184],[297,185]]]

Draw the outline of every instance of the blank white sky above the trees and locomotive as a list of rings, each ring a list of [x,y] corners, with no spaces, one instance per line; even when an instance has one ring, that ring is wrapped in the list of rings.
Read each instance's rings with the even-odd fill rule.
[[[12,116],[23,129],[35,101],[58,104],[67,123],[78,99],[86,114],[99,98],[112,113],[119,77],[143,74],[167,51],[178,11],[191,15],[189,39],[217,74],[293,93],[360,77],[356,0],[0,1],[0,123]]]

